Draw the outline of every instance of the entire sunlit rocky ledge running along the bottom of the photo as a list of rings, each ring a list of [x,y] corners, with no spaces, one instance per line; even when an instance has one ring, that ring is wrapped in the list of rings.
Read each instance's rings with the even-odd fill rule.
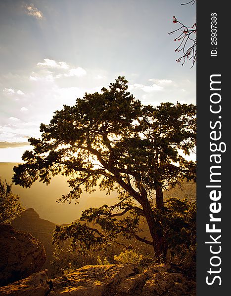
[[[170,265],[86,265],[49,280],[47,271],[0,288],[0,296],[195,296],[196,285]]]

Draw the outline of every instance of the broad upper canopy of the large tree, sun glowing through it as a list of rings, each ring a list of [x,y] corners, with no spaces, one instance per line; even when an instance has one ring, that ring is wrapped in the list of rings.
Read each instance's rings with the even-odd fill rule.
[[[149,192],[183,175],[193,179],[195,165],[179,149],[189,154],[195,145],[195,106],[142,106],[127,91],[127,82],[119,76],[109,90],[86,94],[76,105],[55,111],[50,124],[41,124],[42,138],[29,139],[34,150],[23,154],[26,163],[14,167],[14,183],[29,187],[40,179],[49,184],[61,173],[70,177],[72,188],[61,200],[71,201],[83,189],[94,190],[97,181],[108,192],[131,195],[121,182],[129,185],[128,175],[138,193],[140,185]]]

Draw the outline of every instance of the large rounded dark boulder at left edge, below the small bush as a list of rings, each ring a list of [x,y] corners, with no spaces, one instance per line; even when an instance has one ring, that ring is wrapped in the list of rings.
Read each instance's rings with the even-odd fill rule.
[[[46,261],[42,243],[11,225],[0,225],[0,254],[0,286],[28,277]]]

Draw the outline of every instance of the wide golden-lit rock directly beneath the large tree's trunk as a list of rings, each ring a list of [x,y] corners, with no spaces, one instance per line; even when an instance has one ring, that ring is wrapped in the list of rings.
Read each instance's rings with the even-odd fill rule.
[[[49,296],[195,296],[195,282],[170,265],[155,264],[139,272],[133,264],[86,265],[52,280]]]

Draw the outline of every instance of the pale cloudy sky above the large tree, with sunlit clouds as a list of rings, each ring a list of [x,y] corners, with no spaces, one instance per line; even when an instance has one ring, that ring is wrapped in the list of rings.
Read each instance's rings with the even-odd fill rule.
[[[0,0],[0,162],[21,162],[53,112],[118,75],[143,104],[196,104],[196,66],[177,63],[178,0]]]

